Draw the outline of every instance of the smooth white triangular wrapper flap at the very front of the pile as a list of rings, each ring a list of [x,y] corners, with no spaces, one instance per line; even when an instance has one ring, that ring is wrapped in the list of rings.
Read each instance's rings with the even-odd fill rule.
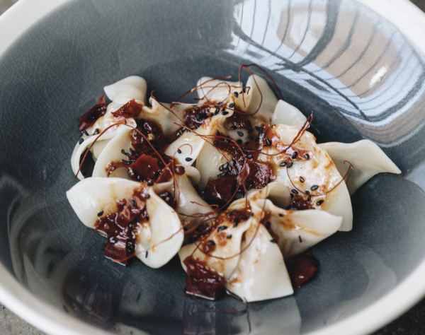
[[[226,288],[247,302],[285,297],[294,293],[282,253],[264,225],[256,223],[246,230],[237,268],[226,281]],[[255,235],[255,237],[254,237]]]

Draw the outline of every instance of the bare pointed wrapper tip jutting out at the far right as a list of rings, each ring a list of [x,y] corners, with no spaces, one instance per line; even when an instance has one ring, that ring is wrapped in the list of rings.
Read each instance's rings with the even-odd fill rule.
[[[353,165],[354,170],[348,173],[345,180],[350,195],[378,173],[402,173],[381,148],[369,140],[354,143],[329,142],[319,144],[319,147],[327,151],[341,175],[345,175],[349,167],[344,164],[344,160]]]

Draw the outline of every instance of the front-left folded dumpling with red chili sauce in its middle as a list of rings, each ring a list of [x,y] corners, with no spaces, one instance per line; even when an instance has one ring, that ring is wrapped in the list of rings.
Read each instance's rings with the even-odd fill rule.
[[[133,227],[132,232],[137,235],[134,252],[152,268],[166,264],[179,252],[183,243],[183,229],[176,211],[145,183],[121,178],[91,177],[69,189],[67,198],[80,221],[89,228],[103,232],[108,230],[110,227],[103,228],[100,225],[103,225],[103,218],[111,216],[117,229],[125,231],[121,219],[125,221],[126,227]],[[135,222],[143,209],[147,217]],[[108,223],[111,224],[111,221],[105,221],[104,224]],[[128,244],[123,234],[113,237],[108,235],[108,243],[114,242],[115,247],[121,245],[125,249]]]

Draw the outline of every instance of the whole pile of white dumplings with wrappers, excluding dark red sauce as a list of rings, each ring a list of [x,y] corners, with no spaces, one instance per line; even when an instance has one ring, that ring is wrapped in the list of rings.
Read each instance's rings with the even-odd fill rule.
[[[158,102],[153,98],[147,105],[147,83],[138,76],[106,86],[104,90],[111,103],[103,116],[85,129],[72,153],[72,170],[80,181],[67,192],[69,203],[81,222],[95,229],[99,218],[118,211],[117,201],[130,201],[135,190],[147,187],[149,224],[140,226],[136,232],[135,255],[140,261],[156,269],[179,254],[187,271],[183,261],[192,257],[224,278],[225,288],[247,302],[291,295],[293,284],[285,260],[305,252],[338,230],[351,230],[350,196],[377,173],[400,173],[400,170],[371,141],[317,144],[308,131],[293,146],[312,153],[312,157],[293,160],[288,168],[288,164],[282,164],[280,147],[293,142],[307,119],[293,105],[278,100],[261,76],[250,76],[243,91],[239,82],[208,77],[200,78],[197,88],[199,105],[220,102],[225,112],[212,114],[197,129],[183,131],[176,137],[187,105]],[[112,113],[131,100],[142,106],[140,114],[112,126],[116,123]],[[234,109],[249,115],[254,132],[229,127],[227,118],[232,117]],[[165,182],[150,184],[131,180],[125,168],[108,175],[108,164],[125,158],[123,152],[132,147],[132,127],[137,127],[140,119],[157,122],[166,139],[175,139],[164,153],[174,156],[177,164],[184,167],[183,174],[175,173]],[[221,214],[243,211],[248,206],[251,215],[239,224],[222,220],[220,227],[208,235],[215,248],[210,253],[203,252],[199,242],[191,242],[185,234],[191,227],[187,223],[190,218],[211,212],[200,194],[208,181],[220,174],[222,165],[232,160],[231,154],[220,152],[205,139],[221,134],[246,142],[256,139],[261,124],[271,125],[273,141],[262,148],[258,160],[272,165],[274,179],[262,189],[250,189],[242,198],[232,199]],[[79,166],[88,149],[96,163],[92,176],[84,178]],[[353,170],[341,182],[350,167],[344,161],[348,161]],[[291,196],[297,190],[312,195],[310,209],[290,208]],[[159,196],[166,191],[174,194],[178,206],[169,206]],[[322,195],[314,197],[314,194]],[[219,214],[215,213],[211,220]],[[268,227],[261,223],[264,216],[267,216]]]

